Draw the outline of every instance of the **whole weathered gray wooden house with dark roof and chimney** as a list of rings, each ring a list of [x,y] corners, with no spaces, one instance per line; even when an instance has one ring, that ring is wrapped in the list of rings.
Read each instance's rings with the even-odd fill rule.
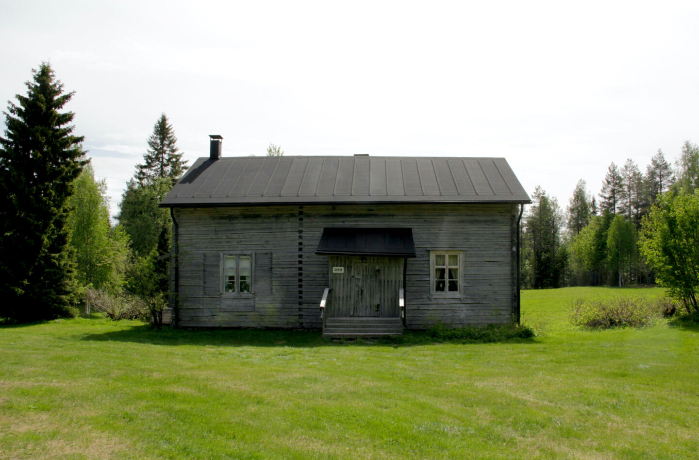
[[[221,157],[162,201],[179,326],[326,336],[519,321],[524,189],[503,158]]]

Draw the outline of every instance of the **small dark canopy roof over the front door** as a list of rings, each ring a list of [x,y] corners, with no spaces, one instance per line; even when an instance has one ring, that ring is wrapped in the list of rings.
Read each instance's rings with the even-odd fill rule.
[[[412,229],[325,227],[316,254],[415,257]]]

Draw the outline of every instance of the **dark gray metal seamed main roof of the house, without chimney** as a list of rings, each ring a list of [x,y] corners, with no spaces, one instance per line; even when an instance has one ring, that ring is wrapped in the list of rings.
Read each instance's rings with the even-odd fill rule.
[[[530,203],[504,158],[200,158],[160,206]]]

